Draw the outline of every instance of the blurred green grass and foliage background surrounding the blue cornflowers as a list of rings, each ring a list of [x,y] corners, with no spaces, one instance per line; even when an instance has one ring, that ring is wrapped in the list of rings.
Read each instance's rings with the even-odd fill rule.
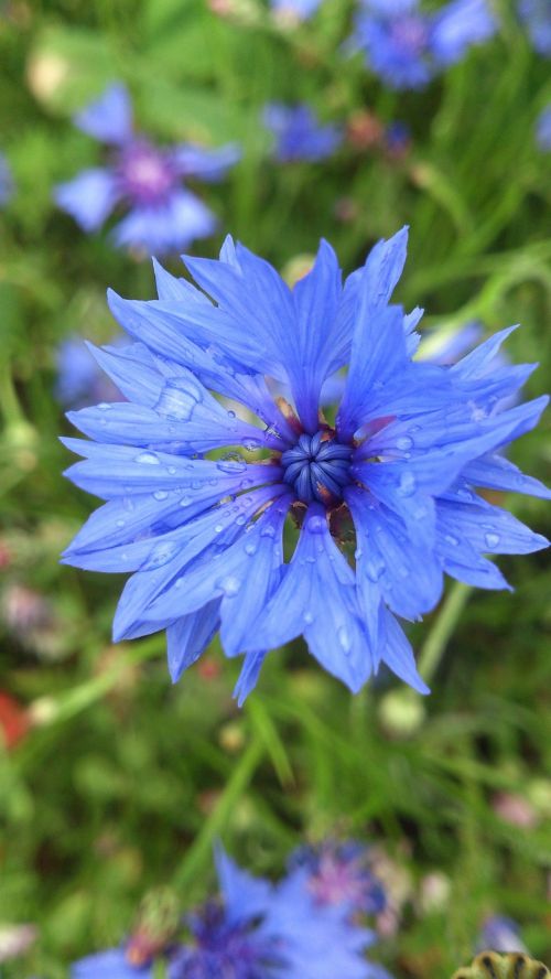
[[[2,975],[63,977],[120,940],[152,885],[203,899],[218,836],[276,873],[290,847],[331,832],[380,848],[397,910],[380,958],[397,977],[444,979],[491,912],[551,960],[545,552],[500,560],[514,594],[456,588],[411,630],[424,661],[440,660],[426,700],[387,676],[353,698],[294,646],[269,657],[242,711],[216,644],[172,687],[162,637],[110,645],[118,580],[57,563],[93,507],[61,475],[57,346],[112,336],[106,286],[153,295],[142,256],[84,235],[52,203],[55,183],[100,159],[71,117],[109,82],[129,86],[161,142],[241,143],[225,182],[202,191],[219,234],[196,254],[215,255],[230,230],[285,269],[325,236],[350,271],[407,223],[400,301],[425,306],[429,326],[521,322],[508,351],[542,365],[529,395],[549,386],[551,157],[534,122],[550,63],[512,7],[496,6],[495,40],[406,94],[343,52],[345,0],[294,26],[260,0],[0,6],[0,149],[15,183],[0,214],[0,929],[37,928]],[[343,147],[277,165],[260,122],[270,99],[344,125]],[[370,139],[374,120],[406,121],[407,147]],[[549,476],[549,421],[512,458]],[[541,501],[514,506],[551,535]]]

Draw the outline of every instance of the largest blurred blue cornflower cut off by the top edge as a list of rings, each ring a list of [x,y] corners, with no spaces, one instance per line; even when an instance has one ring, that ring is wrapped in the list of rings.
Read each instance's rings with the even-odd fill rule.
[[[419,0],[364,0],[352,47],[390,88],[423,88],[495,28],[486,0],[452,0],[434,13]]]

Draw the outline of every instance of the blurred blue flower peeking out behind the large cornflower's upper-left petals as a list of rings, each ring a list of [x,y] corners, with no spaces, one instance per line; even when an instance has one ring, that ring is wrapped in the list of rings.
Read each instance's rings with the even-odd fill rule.
[[[98,401],[120,401],[116,386],[98,367],[86,343],[76,334],[56,349],[55,397],[67,408],[85,408]]]

